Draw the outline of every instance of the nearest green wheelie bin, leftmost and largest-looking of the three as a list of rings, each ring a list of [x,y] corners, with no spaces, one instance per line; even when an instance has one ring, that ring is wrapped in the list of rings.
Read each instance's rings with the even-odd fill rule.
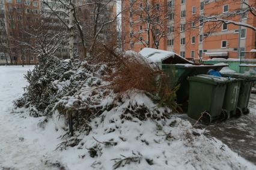
[[[227,112],[222,110],[225,90],[231,82],[225,77],[213,75],[196,75],[189,77],[189,107],[188,116],[200,119],[209,125],[215,119],[227,117]]]

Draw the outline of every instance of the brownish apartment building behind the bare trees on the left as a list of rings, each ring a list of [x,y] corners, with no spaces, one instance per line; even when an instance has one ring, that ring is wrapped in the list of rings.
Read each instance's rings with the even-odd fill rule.
[[[56,51],[55,55],[66,59],[69,57],[69,33],[67,27],[62,23],[66,22],[69,25],[69,10],[64,4],[69,4],[69,1],[46,1],[48,5],[40,0],[0,0],[0,64],[8,63],[11,64],[35,64],[38,60],[35,57],[34,51],[29,50],[25,46],[20,46],[20,41],[27,41],[29,43],[37,43],[33,38],[29,37],[29,32],[34,34],[34,30],[31,27],[36,28],[36,25],[44,24],[46,28],[45,34],[48,30],[61,32],[64,40],[64,45]],[[90,48],[91,36],[94,31],[94,16],[95,5],[83,6],[83,4],[91,2],[90,0],[74,0],[72,1],[76,6],[76,16],[79,23],[82,25],[82,31],[84,32],[85,45]],[[105,5],[99,5],[100,9]],[[99,30],[102,23],[108,22],[114,19],[116,15],[116,3],[109,2],[106,4],[106,9],[102,10],[98,15],[99,20],[96,26],[96,31]],[[55,10],[53,12],[52,10]],[[58,14],[58,17],[56,16]],[[61,20],[60,20],[61,18]],[[26,34],[24,34],[26,32]],[[75,31],[75,53],[82,53],[84,50],[82,47],[81,39],[79,38],[79,31]],[[96,32],[97,33],[97,32]],[[54,33],[53,33],[54,34]],[[117,41],[117,29],[116,23],[106,25],[102,31],[97,33],[98,39],[105,42],[116,42]]]

